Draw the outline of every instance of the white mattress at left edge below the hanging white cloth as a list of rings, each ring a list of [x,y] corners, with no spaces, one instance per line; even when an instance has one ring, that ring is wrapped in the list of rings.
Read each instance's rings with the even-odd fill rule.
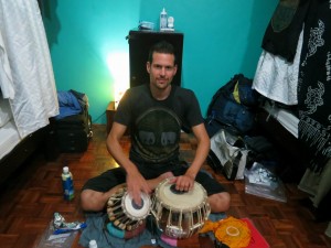
[[[20,134],[14,120],[11,119],[7,125],[0,128],[0,160],[7,155],[20,141]]]

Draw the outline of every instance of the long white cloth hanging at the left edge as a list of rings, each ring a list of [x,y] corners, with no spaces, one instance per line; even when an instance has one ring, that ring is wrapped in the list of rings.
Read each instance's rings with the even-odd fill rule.
[[[21,138],[58,115],[55,79],[36,0],[0,0],[0,33],[12,76],[10,100]],[[0,44],[1,46],[1,44]],[[9,85],[1,85],[1,90]]]

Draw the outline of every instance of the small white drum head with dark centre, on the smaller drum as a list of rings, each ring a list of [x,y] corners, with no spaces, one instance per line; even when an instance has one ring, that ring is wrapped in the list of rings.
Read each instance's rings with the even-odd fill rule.
[[[126,192],[121,200],[121,206],[124,212],[131,219],[143,219],[150,213],[151,200],[148,194],[141,193],[141,206],[138,206],[132,197]]]

